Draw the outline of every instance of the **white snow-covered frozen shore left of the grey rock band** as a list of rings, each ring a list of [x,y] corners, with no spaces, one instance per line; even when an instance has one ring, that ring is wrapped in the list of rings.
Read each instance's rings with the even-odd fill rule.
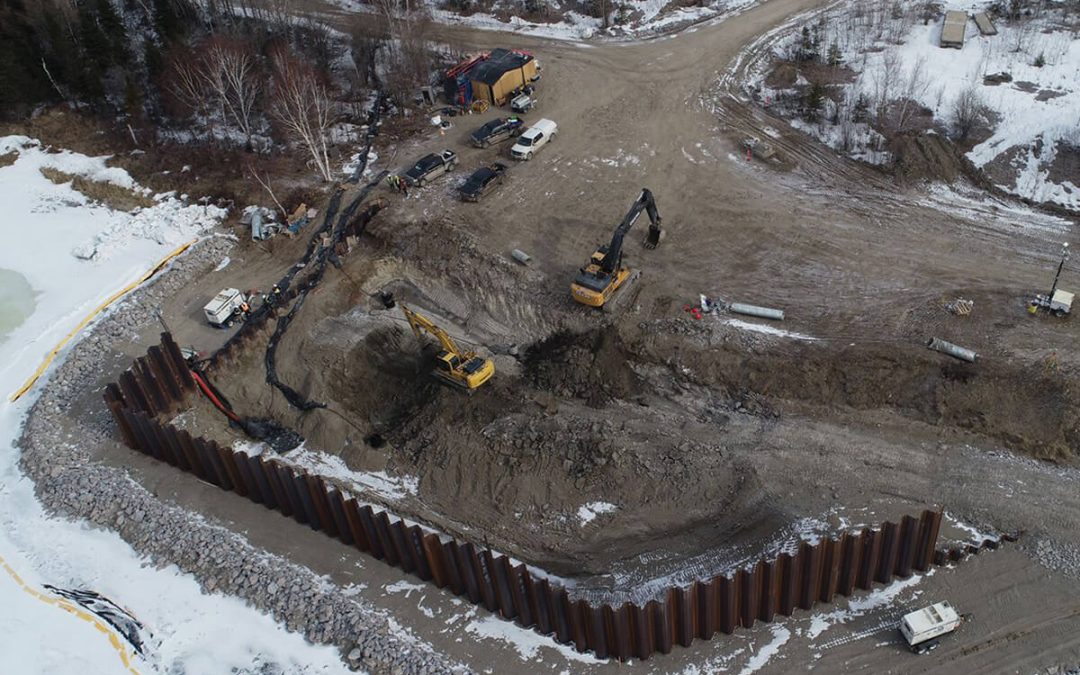
[[[55,185],[39,171],[56,166],[139,189],[125,172],[106,167],[103,158],[46,152],[23,137],[0,138],[0,156],[9,152],[17,152],[18,159],[0,167],[0,203],[5,207],[0,270],[6,270],[5,279],[17,275],[25,283],[19,311],[0,301],[10,324],[6,335],[0,330],[0,558],[10,567],[0,565],[0,671],[261,673],[265,665],[276,664],[281,670],[274,672],[346,672],[334,649],[309,645],[238,599],[202,594],[194,580],[176,569],[153,569],[112,532],[43,512],[33,486],[19,472],[14,442],[45,382],[17,403],[9,394],[90,309],[224,214],[173,198],[139,214],[116,213],[87,204],[69,185]],[[72,255],[87,242],[96,242],[99,255],[92,260]],[[31,297],[25,297],[25,288]],[[109,635],[30,593],[51,597],[45,583],[93,590],[126,608],[146,629],[147,656],[125,666]],[[118,645],[132,652],[125,642]]]

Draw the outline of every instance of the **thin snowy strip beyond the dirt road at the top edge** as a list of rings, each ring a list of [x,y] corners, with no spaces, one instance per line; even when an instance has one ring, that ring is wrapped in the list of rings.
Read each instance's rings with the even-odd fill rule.
[[[562,8],[558,2],[542,2],[548,5],[550,22],[534,22],[522,17],[522,2],[497,0],[489,12],[473,12],[463,15],[445,9],[445,2],[428,2],[431,16],[442,24],[468,26],[481,30],[517,32],[552,40],[589,40],[591,38],[635,38],[648,37],[675,30],[711,18],[730,16],[742,12],[762,0],[705,0],[698,6],[681,6],[672,0],[625,0],[611,2],[615,25],[603,29],[596,16],[581,14]],[[372,12],[369,2],[362,0],[333,0],[338,6],[352,12]],[[579,6],[579,5],[575,5]],[[621,10],[619,8],[622,8]],[[620,16],[624,18],[622,23]]]

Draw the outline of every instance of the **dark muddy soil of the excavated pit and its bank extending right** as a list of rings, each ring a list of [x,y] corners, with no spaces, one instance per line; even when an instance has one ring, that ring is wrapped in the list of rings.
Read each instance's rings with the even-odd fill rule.
[[[1039,458],[1070,462],[1080,451],[1071,360],[1016,359],[985,335],[991,308],[1022,311],[1008,294],[968,293],[974,316],[937,299],[885,308],[895,316],[888,339],[839,326],[794,339],[747,332],[729,314],[694,321],[667,296],[615,315],[586,311],[537,276],[448,218],[411,221],[391,207],[309,297],[279,350],[282,380],[324,409],[299,413],[269,388],[258,343],[215,378],[238,410],[296,429],[308,449],[419,481],[402,499],[343,478],[347,489],[573,577],[579,590],[634,573],[658,550],[680,557],[664,556],[652,578],[712,550],[750,550],[806,515],[816,500],[792,498],[788,480],[755,458],[800,419],[873,424],[885,414]],[[494,359],[496,377],[474,395],[436,383],[433,342],[382,307],[375,296],[388,291]],[[931,334],[971,336],[980,362],[927,350]],[[192,415],[186,423],[230,433],[206,406]],[[595,503],[613,510],[583,516]]]

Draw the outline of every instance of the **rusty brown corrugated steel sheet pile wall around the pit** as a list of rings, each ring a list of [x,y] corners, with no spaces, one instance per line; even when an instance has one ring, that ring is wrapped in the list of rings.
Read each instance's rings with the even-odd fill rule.
[[[571,599],[566,589],[546,579],[534,578],[525,565],[392,518],[320,476],[161,423],[156,414],[175,407],[193,389],[190,373],[180,365],[179,350],[166,334],[161,348],[151,348],[119,384],[106,389],[105,400],[130,447],[602,659],[667,653],[675,645],[690,646],[694,638],[748,629],[875,582],[926,571],[934,562],[942,513],[923,511],[918,518],[904,516],[879,529],[801,542],[794,555],[784,553],[688,588],[670,588],[659,602],[594,607]]]

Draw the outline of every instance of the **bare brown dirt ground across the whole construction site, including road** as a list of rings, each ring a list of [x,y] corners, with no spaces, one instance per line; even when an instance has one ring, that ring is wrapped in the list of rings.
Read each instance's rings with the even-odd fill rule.
[[[962,188],[901,190],[742,100],[744,48],[820,4],[770,0],[634,44],[436,29],[462,49],[534,51],[544,78],[530,119],[555,120],[557,139],[512,166],[481,204],[456,201],[448,179],[407,200],[387,195],[391,206],[345,273],[329,273],[312,294],[280,351],[282,378],[329,402],[334,415],[292,410],[266,387],[257,352],[219,386],[239,410],[296,426],[353,471],[415,477],[415,495],[390,500],[401,513],[557,573],[585,572],[578,591],[593,597],[623,597],[627,588],[647,596],[661,583],[715,573],[782,544],[778,531],[797,537],[807,518],[826,531],[942,505],[961,524],[1026,531],[1010,551],[939,570],[879,604],[853,603],[843,621],[819,609],[816,619],[800,615],[632,666],[644,672],[1077,663],[1069,589],[1080,575],[1071,386],[1080,330],[1024,311],[1026,294],[1049,282],[1071,225]],[[459,171],[505,161],[505,148],[464,143],[495,114],[457,118],[446,136],[380,156],[405,163],[451,147]],[[746,133],[775,134],[783,162],[747,161]],[[576,306],[570,280],[642,187],[657,195],[669,237],[656,251],[637,246],[643,232],[629,238],[626,260],[643,270],[636,300],[611,316]],[[508,262],[511,248],[528,252],[531,268]],[[228,273],[273,279],[280,260],[255,258]],[[193,298],[222,279],[178,298],[171,322],[198,322]],[[497,379],[471,399],[433,390],[415,340],[367,298],[383,288],[494,354]],[[699,293],[780,307],[787,320],[771,334],[732,316],[699,323],[681,310]],[[959,296],[975,300],[971,316],[942,307]],[[203,339],[200,330],[187,337]],[[929,352],[932,336],[982,359],[966,365]],[[211,414],[186,423],[228,433]],[[372,434],[388,443],[376,447]],[[134,461],[126,450],[109,457]],[[166,468],[138,465],[168,498],[233,521],[272,551],[338,581],[370,579],[361,593],[477,670],[618,667],[546,647],[538,647],[542,664],[522,662],[519,645],[477,642],[513,629],[492,627],[428,589],[417,592],[419,605],[400,602],[388,590],[392,570],[310,534],[299,546],[281,534],[293,524],[234,510],[227,496],[191,496]],[[596,502],[617,509],[578,516]],[[962,528],[949,536],[963,537]],[[986,619],[951,640],[946,658],[913,662],[888,625],[899,608],[932,598]]]

